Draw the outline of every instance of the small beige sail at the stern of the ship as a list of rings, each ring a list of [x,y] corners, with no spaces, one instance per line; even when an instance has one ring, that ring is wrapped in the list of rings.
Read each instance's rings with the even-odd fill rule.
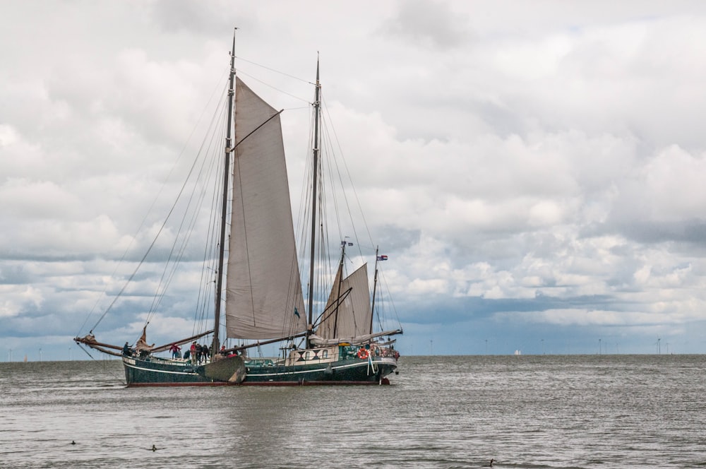
[[[363,264],[354,273],[341,280],[338,269],[333,288],[326,303],[326,313],[316,328],[316,335],[324,339],[352,338],[372,331],[370,292],[368,290],[368,265]],[[350,295],[338,300],[342,293],[351,289]],[[338,309],[336,311],[336,303]]]

